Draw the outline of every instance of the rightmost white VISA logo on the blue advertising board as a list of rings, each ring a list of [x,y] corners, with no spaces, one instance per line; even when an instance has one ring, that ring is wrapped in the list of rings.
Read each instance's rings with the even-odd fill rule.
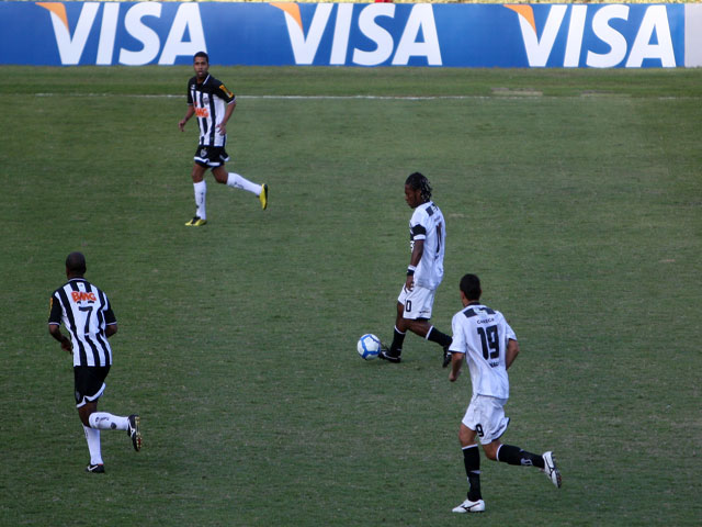
[[[645,59],[656,59],[660,61],[663,67],[676,66],[666,5],[646,8],[638,27],[632,26],[633,24],[629,22],[629,5],[551,5],[546,22],[541,29],[541,36],[539,36],[534,10],[531,5],[506,4],[505,7],[519,14],[519,26],[531,67],[546,66],[568,12],[570,20],[566,30],[564,67],[577,68],[581,66],[580,56],[584,48],[587,49],[585,66],[592,68],[621,66],[624,59],[626,59],[624,63],[626,68],[641,68]],[[590,20],[587,16],[588,10],[590,13],[595,10]],[[595,38],[591,36],[584,38],[586,30]],[[631,34],[634,31],[636,36],[631,42]],[[629,40],[626,35],[630,35]],[[598,53],[593,49],[603,51],[603,47],[607,49],[605,53]]]

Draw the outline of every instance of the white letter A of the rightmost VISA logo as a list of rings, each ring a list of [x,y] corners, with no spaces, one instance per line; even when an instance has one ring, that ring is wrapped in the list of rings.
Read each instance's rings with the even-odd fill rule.
[[[654,32],[658,37],[658,44],[650,43]],[[626,67],[641,68],[645,58],[660,59],[664,68],[675,68],[676,66],[668,10],[665,5],[652,5],[646,9],[632,52],[626,60]]]

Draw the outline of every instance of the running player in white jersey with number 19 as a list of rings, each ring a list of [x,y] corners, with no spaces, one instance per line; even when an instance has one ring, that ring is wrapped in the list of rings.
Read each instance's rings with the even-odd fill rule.
[[[480,457],[476,436],[488,459],[536,467],[546,474],[548,481],[561,487],[561,472],[556,468],[553,452],[540,456],[500,442],[509,424],[503,408],[509,397],[507,369],[519,354],[519,344],[502,314],[480,303],[482,293],[478,277],[465,274],[461,279],[463,310],[452,321],[449,380],[455,382],[465,358],[473,384],[473,397],[458,430],[469,490],[466,500],[453,509],[454,513],[485,511],[485,502],[480,495]]]

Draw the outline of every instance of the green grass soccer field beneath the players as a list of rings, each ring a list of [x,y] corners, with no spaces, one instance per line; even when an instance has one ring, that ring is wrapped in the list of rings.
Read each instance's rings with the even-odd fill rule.
[[[702,523],[702,71],[213,67],[271,201],[208,176],[200,229],[190,68],[0,72],[1,525]],[[415,170],[448,223],[433,322],[478,273],[522,348],[503,440],[564,476],[483,458],[477,518],[467,375],[416,336],[355,352],[392,335]],[[46,329],[71,250],[120,322],[101,408],[143,417],[102,476]]]

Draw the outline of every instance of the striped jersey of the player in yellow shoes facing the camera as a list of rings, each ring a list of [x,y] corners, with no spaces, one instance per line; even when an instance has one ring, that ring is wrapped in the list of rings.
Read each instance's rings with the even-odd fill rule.
[[[188,104],[195,110],[201,146],[226,145],[227,136],[219,133],[217,125],[222,123],[227,106],[235,103],[236,96],[211,75],[200,85],[197,77],[188,81]]]

